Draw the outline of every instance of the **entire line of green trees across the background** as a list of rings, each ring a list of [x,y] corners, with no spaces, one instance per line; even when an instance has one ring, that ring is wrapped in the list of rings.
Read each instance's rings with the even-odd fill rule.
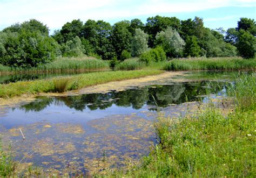
[[[123,20],[111,25],[103,20],[72,20],[49,35],[36,19],[14,24],[0,31],[0,63],[14,67],[35,67],[56,56],[90,55],[103,60],[124,60],[163,55],[169,58],[221,57],[240,55],[254,58],[256,23],[240,18],[238,26],[224,31],[204,27],[203,19],[149,17]],[[165,53],[165,54],[163,54]],[[157,58],[157,57],[156,57]]]

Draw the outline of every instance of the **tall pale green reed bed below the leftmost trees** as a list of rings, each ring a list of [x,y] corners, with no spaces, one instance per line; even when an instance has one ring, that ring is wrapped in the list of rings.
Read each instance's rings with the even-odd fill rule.
[[[58,58],[55,61],[32,68],[8,67],[0,65],[0,74],[12,73],[60,73],[68,71],[86,71],[109,69],[109,62],[93,57]]]

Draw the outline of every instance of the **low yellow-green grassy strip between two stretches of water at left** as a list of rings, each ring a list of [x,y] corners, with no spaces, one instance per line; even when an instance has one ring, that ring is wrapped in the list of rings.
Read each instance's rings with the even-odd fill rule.
[[[83,87],[94,86],[111,81],[135,79],[147,75],[163,73],[160,70],[134,70],[99,72],[79,74],[70,77],[55,77],[48,80],[21,81],[9,84],[0,84],[0,97],[14,97],[23,94],[37,94],[39,92],[63,92]]]

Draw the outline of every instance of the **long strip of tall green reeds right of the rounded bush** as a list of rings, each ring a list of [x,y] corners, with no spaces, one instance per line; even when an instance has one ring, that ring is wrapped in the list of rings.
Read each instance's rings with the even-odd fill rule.
[[[192,58],[173,59],[165,70],[238,70],[256,69],[256,59],[242,58]]]

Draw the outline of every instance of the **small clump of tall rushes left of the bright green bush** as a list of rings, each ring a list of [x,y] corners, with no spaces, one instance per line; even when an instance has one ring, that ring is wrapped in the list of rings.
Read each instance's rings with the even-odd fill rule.
[[[145,67],[145,63],[139,61],[138,58],[126,59],[116,65],[117,70],[138,70]]]

